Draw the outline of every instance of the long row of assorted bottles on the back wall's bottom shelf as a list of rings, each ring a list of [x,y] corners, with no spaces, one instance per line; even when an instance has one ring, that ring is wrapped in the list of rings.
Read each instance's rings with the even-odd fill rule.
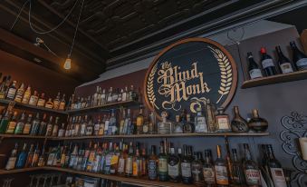
[[[93,144],[93,146],[92,146]],[[96,172],[125,177],[147,178],[160,182],[183,182],[197,186],[240,184],[247,186],[287,187],[280,162],[275,158],[271,144],[263,144],[263,162],[254,162],[249,145],[244,143],[244,156],[238,158],[236,149],[222,155],[221,146],[216,146],[214,161],[211,150],[193,152],[193,147],[184,145],[183,150],[173,143],[162,141],[157,153],[151,145],[150,153],[140,143],[75,143],[50,147],[42,153],[39,145],[18,144],[5,165],[6,170],[24,167],[53,166],[82,172]]]

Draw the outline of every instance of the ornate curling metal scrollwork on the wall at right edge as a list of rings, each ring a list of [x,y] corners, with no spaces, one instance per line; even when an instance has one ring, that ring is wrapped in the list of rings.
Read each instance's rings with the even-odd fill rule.
[[[299,186],[306,186],[307,183],[307,161],[302,160],[299,152],[298,138],[307,137],[307,116],[293,112],[290,116],[283,116],[281,123],[285,130],[280,133],[283,141],[282,148],[287,154],[292,155],[293,173],[292,182]]]

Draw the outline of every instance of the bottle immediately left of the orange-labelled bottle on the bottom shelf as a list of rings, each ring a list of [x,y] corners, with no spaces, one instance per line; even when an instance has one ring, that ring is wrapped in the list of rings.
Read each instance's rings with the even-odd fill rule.
[[[216,184],[215,164],[212,161],[211,150],[205,150],[203,174],[206,186],[214,186]]]

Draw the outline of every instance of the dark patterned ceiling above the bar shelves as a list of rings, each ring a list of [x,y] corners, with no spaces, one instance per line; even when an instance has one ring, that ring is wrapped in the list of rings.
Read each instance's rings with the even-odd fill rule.
[[[137,53],[152,44],[165,41],[199,25],[215,22],[227,15],[272,2],[268,0],[85,0],[72,60],[80,69],[90,71],[91,80],[106,68],[120,64],[153,48]],[[25,0],[2,0],[0,27],[10,30]],[[74,4],[68,21],[50,34],[35,34],[29,27],[29,3],[12,32],[34,43],[37,36],[59,56],[65,58],[82,0],[32,0],[32,23],[39,31],[58,25]],[[3,19],[2,17],[5,17]],[[167,44],[167,43],[166,43]],[[162,46],[158,46],[160,48]],[[134,53],[132,53],[134,52]],[[133,55],[132,55],[133,54]]]

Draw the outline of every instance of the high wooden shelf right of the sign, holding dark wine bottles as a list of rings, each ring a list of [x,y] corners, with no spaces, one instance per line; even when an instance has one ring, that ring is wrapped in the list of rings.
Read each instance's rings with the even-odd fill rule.
[[[297,71],[288,74],[276,74],[273,76],[248,80],[241,85],[241,88],[245,89],[268,84],[281,84],[302,79],[307,79],[307,70]]]

